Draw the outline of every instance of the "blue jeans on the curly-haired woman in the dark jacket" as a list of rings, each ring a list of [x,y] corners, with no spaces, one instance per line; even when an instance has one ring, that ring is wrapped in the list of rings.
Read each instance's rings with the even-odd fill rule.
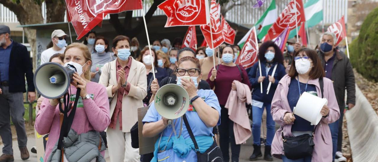
[[[252,106],[252,135],[253,135],[253,144],[260,145],[260,128],[261,128],[261,121],[262,121],[262,114],[264,112],[264,107],[266,109],[266,143],[265,145],[271,146],[274,133],[276,132],[274,129],[275,123],[272,118],[272,114],[270,114],[270,107],[271,103],[264,103],[262,108]]]

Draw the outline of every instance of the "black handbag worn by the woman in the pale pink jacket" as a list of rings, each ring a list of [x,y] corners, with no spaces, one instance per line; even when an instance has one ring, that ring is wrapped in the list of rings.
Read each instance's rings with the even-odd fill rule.
[[[323,78],[319,78],[320,90],[324,98],[324,82]],[[281,131],[281,138],[283,142],[283,152],[288,159],[296,160],[307,156],[312,156],[315,143],[313,141],[316,125],[312,134],[302,134],[296,137],[284,137],[283,130]]]

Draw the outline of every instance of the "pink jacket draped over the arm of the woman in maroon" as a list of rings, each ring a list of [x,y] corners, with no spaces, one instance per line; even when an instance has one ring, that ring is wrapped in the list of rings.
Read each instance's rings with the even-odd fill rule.
[[[245,103],[251,104],[252,95],[248,85],[234,81],[236,90],[231,90],[225,108],[228,108],[230,120],[234,122],[234,135],[236,144],[245,143],[251,137],[251,125]]]

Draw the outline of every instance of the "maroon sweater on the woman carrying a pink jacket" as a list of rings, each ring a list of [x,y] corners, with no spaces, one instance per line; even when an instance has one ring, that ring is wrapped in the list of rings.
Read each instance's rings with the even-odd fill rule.
[[[215,86],[215,95],[218,97],[219,104],[224,106],[227,102],[228,95],[231,91],[231,84],[234,80],[240,81],[241,83],[244,83],[248,85],[249,91],[251,91],[251,84],[249,83],[248,75],[245,69],[240,66],[240,70],[242,71],[243,76],[240,74],[239,69],[234,66],[226,66],[226,65],[219,65],[216,66],[218,68],[217,70],[217,77],[214,79],[214,81],[210,81],[211,71],[214,68],[211,68],[210,73],[208,75],[208,79],[206,80],[210,88],[213,89]],[[243,78],[243,81],[242,81]]]

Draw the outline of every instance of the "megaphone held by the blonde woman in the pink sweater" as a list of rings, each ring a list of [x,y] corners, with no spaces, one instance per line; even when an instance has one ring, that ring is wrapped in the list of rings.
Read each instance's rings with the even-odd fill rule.
[[[55,62],[42,64],[34,74],[34,86],[37,92],[45,98],[55,99],[62,97],[73,81],[73,73],[76,68],[73,65],[63,67]]]

